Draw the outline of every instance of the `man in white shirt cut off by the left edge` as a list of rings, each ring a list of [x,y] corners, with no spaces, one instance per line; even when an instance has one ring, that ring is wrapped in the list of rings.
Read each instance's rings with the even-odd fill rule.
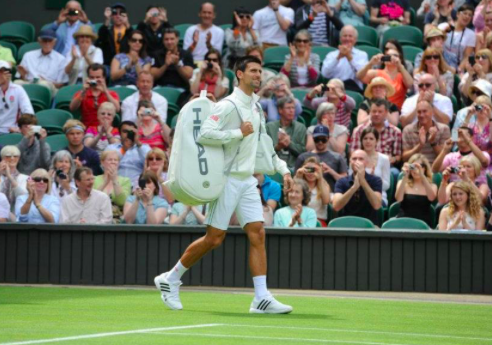
[[[12,83],[11,79],[10,63],[0,60],[0,135],[19,132],[17,117],[20,114],[34,114],[26,91]]]

